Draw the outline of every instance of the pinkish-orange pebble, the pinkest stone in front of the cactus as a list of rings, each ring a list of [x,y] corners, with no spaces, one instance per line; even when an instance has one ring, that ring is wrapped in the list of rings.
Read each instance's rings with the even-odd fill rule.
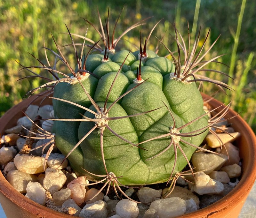
[[[77,177],[67,185],[67,187],[71,190],[71,198],[76,201],[76,204],[78,206],[80,206],[81,203],[84,202],[85,193],[86,193],[84,184],[87,184],[87,181],[85,176]]]

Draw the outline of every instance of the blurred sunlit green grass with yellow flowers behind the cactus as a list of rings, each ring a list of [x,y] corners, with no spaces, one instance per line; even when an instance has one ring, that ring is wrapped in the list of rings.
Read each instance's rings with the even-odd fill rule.
[[[223,75],[206,72],[213,79],[228,83],[236,91],[227,91],[227,95],[220,93],[216,95],[220,101],[228,102],[232,99],[232,108],[241,112],[242,117],[256,131],[256,19],[255,0],[177,0],[177,1],[146,1],[131,0],[129,4],[124,0],[100,1],[100,0],[0,0],[0,116],[14,104],[19,103],[28,90],[43,84],[41,79],[18,79],[31,75],[28,71],[20,70],[20,65],[39,66],[39,63],[28,54],[32,53],[44,63],[43,38],[48,48],[56,51],[51,38],[50,31],[57,39],[59,45],[70,43],[65,24],[71,33],[84,35],[88,19],[98,26],[97,7],[99,8],[102,22],[107,16],[110,7],[110,26],[115,23],[119,12],[124,7],[116,28],[116,36],[120,35],[126,28],[138,22],[140,19],[154,16],[146,22],[142,28],[138,27],[129,32],[119,46],[123,43],[128,49],[135,50],[134,45],[139,46],[139,34],[146,37],[150,29],[159,20],[163,20],[153,32],[148,49],[155,50],[157,40],[164,35],[164,43],[175,51],[173,39],[173,20],[184,40],[188,43],[187,21],[190,26],[191,35],[195,35],[201,26],[202,44],[207,31],[211,27],[210,38],[205,49],[221,34],[211,52],[207,54],[206,60],[211,57],[227,54],[218,59],[230,66],[217,63],[208,65],[208,69],[223,71],[233,76],[236,81],[227,79]],[[111,31],[110,31],[111,32]],[[96,31],[89,26],[88,38],[95,41],[100,39]],[[83,39],[75,37],[76,43],[82,43]],[[128,42],[129,41],[129,42]],[[80,47],[77,47],[78,51]],[[88,49],[86,49],[88,50]],[[73,48],[65,47],[62,51],[66,54],[71,66],[75,67],[75,55]],[[160,46],[160,55],[168,52]],[[50,62],[54,63],[54,57],[48,53]],[[67,69],[62,69],[67,71]],[[35,72],[39,72],[36,71]],[[42,71],[43,75],[47,72]],[[216,91],[212,84],[204,84],[204,92],[211,94]]]

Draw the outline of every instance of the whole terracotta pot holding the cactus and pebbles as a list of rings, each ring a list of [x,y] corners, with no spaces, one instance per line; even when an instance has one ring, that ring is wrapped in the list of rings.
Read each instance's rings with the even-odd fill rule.
[[[204,95],[204,98],[209,96]],[[0,118],[0,134],[4,133],[5,129],[16,125],[18,118],[24,116],[21,110],[24,110],[28,103],[33,101],[35,96],[30,97],[8,110],[3,117]],[[33,104],[39,104],[41,100],[37,99]],[[49,104],[50,99],[46,99],[44,104]],[[216,100],[210,102],[213,108],[216,108],[221,103]],[[224,107],[224,106],[223,106]],[[223,108],[222,107],[222,108]],[[220,108],[220,109],[222,109]],[[219,110],[220,110],[219,109]],[[236,112],[231,110],[226,116],[232,117]],[[252,129],[242,119],[237,116],[231,120],[232,127],[241,133],[241,137],[236,140],[236,144],[240,149],[240,157],[242,159],[242,177],[237,186],[224,198],[218,202],[200,209],[196,212],[184,214],[182,217],[237,217],[244,205],[252,185],[256,179],[256,137]],[[26,217],[26,218],[60,218],[71,217],[70,215],[60,214],[49,208],[41,206],[36,202],[26,198],[24,195],[17,192],[4,178],[0,175],[0,202],[8,218]]]

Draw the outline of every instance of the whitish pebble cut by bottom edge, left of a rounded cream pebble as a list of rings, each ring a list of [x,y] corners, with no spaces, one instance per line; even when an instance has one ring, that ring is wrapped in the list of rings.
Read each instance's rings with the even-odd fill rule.
[[[79,217],[90,218],[107,218],[107,204],[103,200],[96,201],[92,204],[86,204],[81,210]]]

